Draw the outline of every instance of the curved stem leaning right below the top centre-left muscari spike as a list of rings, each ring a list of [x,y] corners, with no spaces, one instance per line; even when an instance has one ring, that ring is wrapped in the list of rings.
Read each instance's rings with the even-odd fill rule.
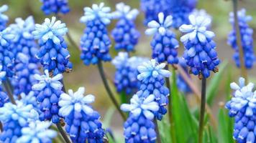
[[[99,74],[101,74],[101,79],[102,79],[102,82],[104,83],[104,87],[106,89],[106,92],[108,92],[111,101],[114,103],[114,106],[116,107],[117,111],[121,115],[122,119],[124,119],[124,121],[125,121],[126,116],[125,116],[124,112],[122,112],[122,110],[120,109],[119,104],[118,104],[118,102],[116,101],[116,99],[114,97],[114,94],[111,92],[109,84],[106,81],[106,76],[105,76],[104,69],[103,69],[101,61],[98,62],[98,69],[99,69]]]

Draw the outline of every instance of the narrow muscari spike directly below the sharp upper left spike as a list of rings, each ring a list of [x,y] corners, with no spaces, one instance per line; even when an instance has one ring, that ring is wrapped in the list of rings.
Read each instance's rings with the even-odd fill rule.
[[[60,121],[58,101],[60,94],[63,93],[63,84],[60,80],[63,79],[63,75],[57,74],[50,77],[49,71],[46,69],[45,75],[35,74],[35,79],[38,83],[32,86],[32,90],[39,92],[37,102],[40,103],[40,120],[52,120],[53,123],[58,123]]]

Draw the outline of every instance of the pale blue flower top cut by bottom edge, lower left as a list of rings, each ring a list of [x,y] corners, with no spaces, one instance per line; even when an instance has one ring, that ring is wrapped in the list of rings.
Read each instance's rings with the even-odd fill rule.
[[[22,136],[17,139],[17,143],[39,143],[52,142],[57,137],[57,132],[50,127],[50,122],[31,122],[29,127],[22,128]]]

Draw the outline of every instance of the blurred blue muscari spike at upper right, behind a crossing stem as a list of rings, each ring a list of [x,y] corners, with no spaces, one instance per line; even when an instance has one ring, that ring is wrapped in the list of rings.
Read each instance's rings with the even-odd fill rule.
[[[233,56],[234,61],[236,62],[237,67],[240,67],[239,61],[239,47],[237,46],[237,35],[236,29],[234,26],[234,13],[230,13],[229,21],[233,26],[233,30],[229,33],[227,43],[232,46],[235,53]],[[252,16],[246,16],[245,9],[242,9],[237,12],[239,29],[242,37],[242,49],[244,54],[244,65],[247,69],[252,69],[253,64],[255,63],[255,52],[253,46],[253,30],[247,24],[248,21],[252,20]]]

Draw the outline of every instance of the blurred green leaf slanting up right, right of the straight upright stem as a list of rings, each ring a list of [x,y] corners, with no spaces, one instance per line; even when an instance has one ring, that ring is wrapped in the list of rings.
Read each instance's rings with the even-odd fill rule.
[[[219,84],[221,80],[223,79],[224,71],[226,71],[227,61],[224,61],[221,66],[219,67],[219,72],[214,74],[214,77],[212,77],[211,81],[209,82],[209,86],[207,87],[206,92],[206,102],[211,106],[214,97],[216,97],[219,89]]]

